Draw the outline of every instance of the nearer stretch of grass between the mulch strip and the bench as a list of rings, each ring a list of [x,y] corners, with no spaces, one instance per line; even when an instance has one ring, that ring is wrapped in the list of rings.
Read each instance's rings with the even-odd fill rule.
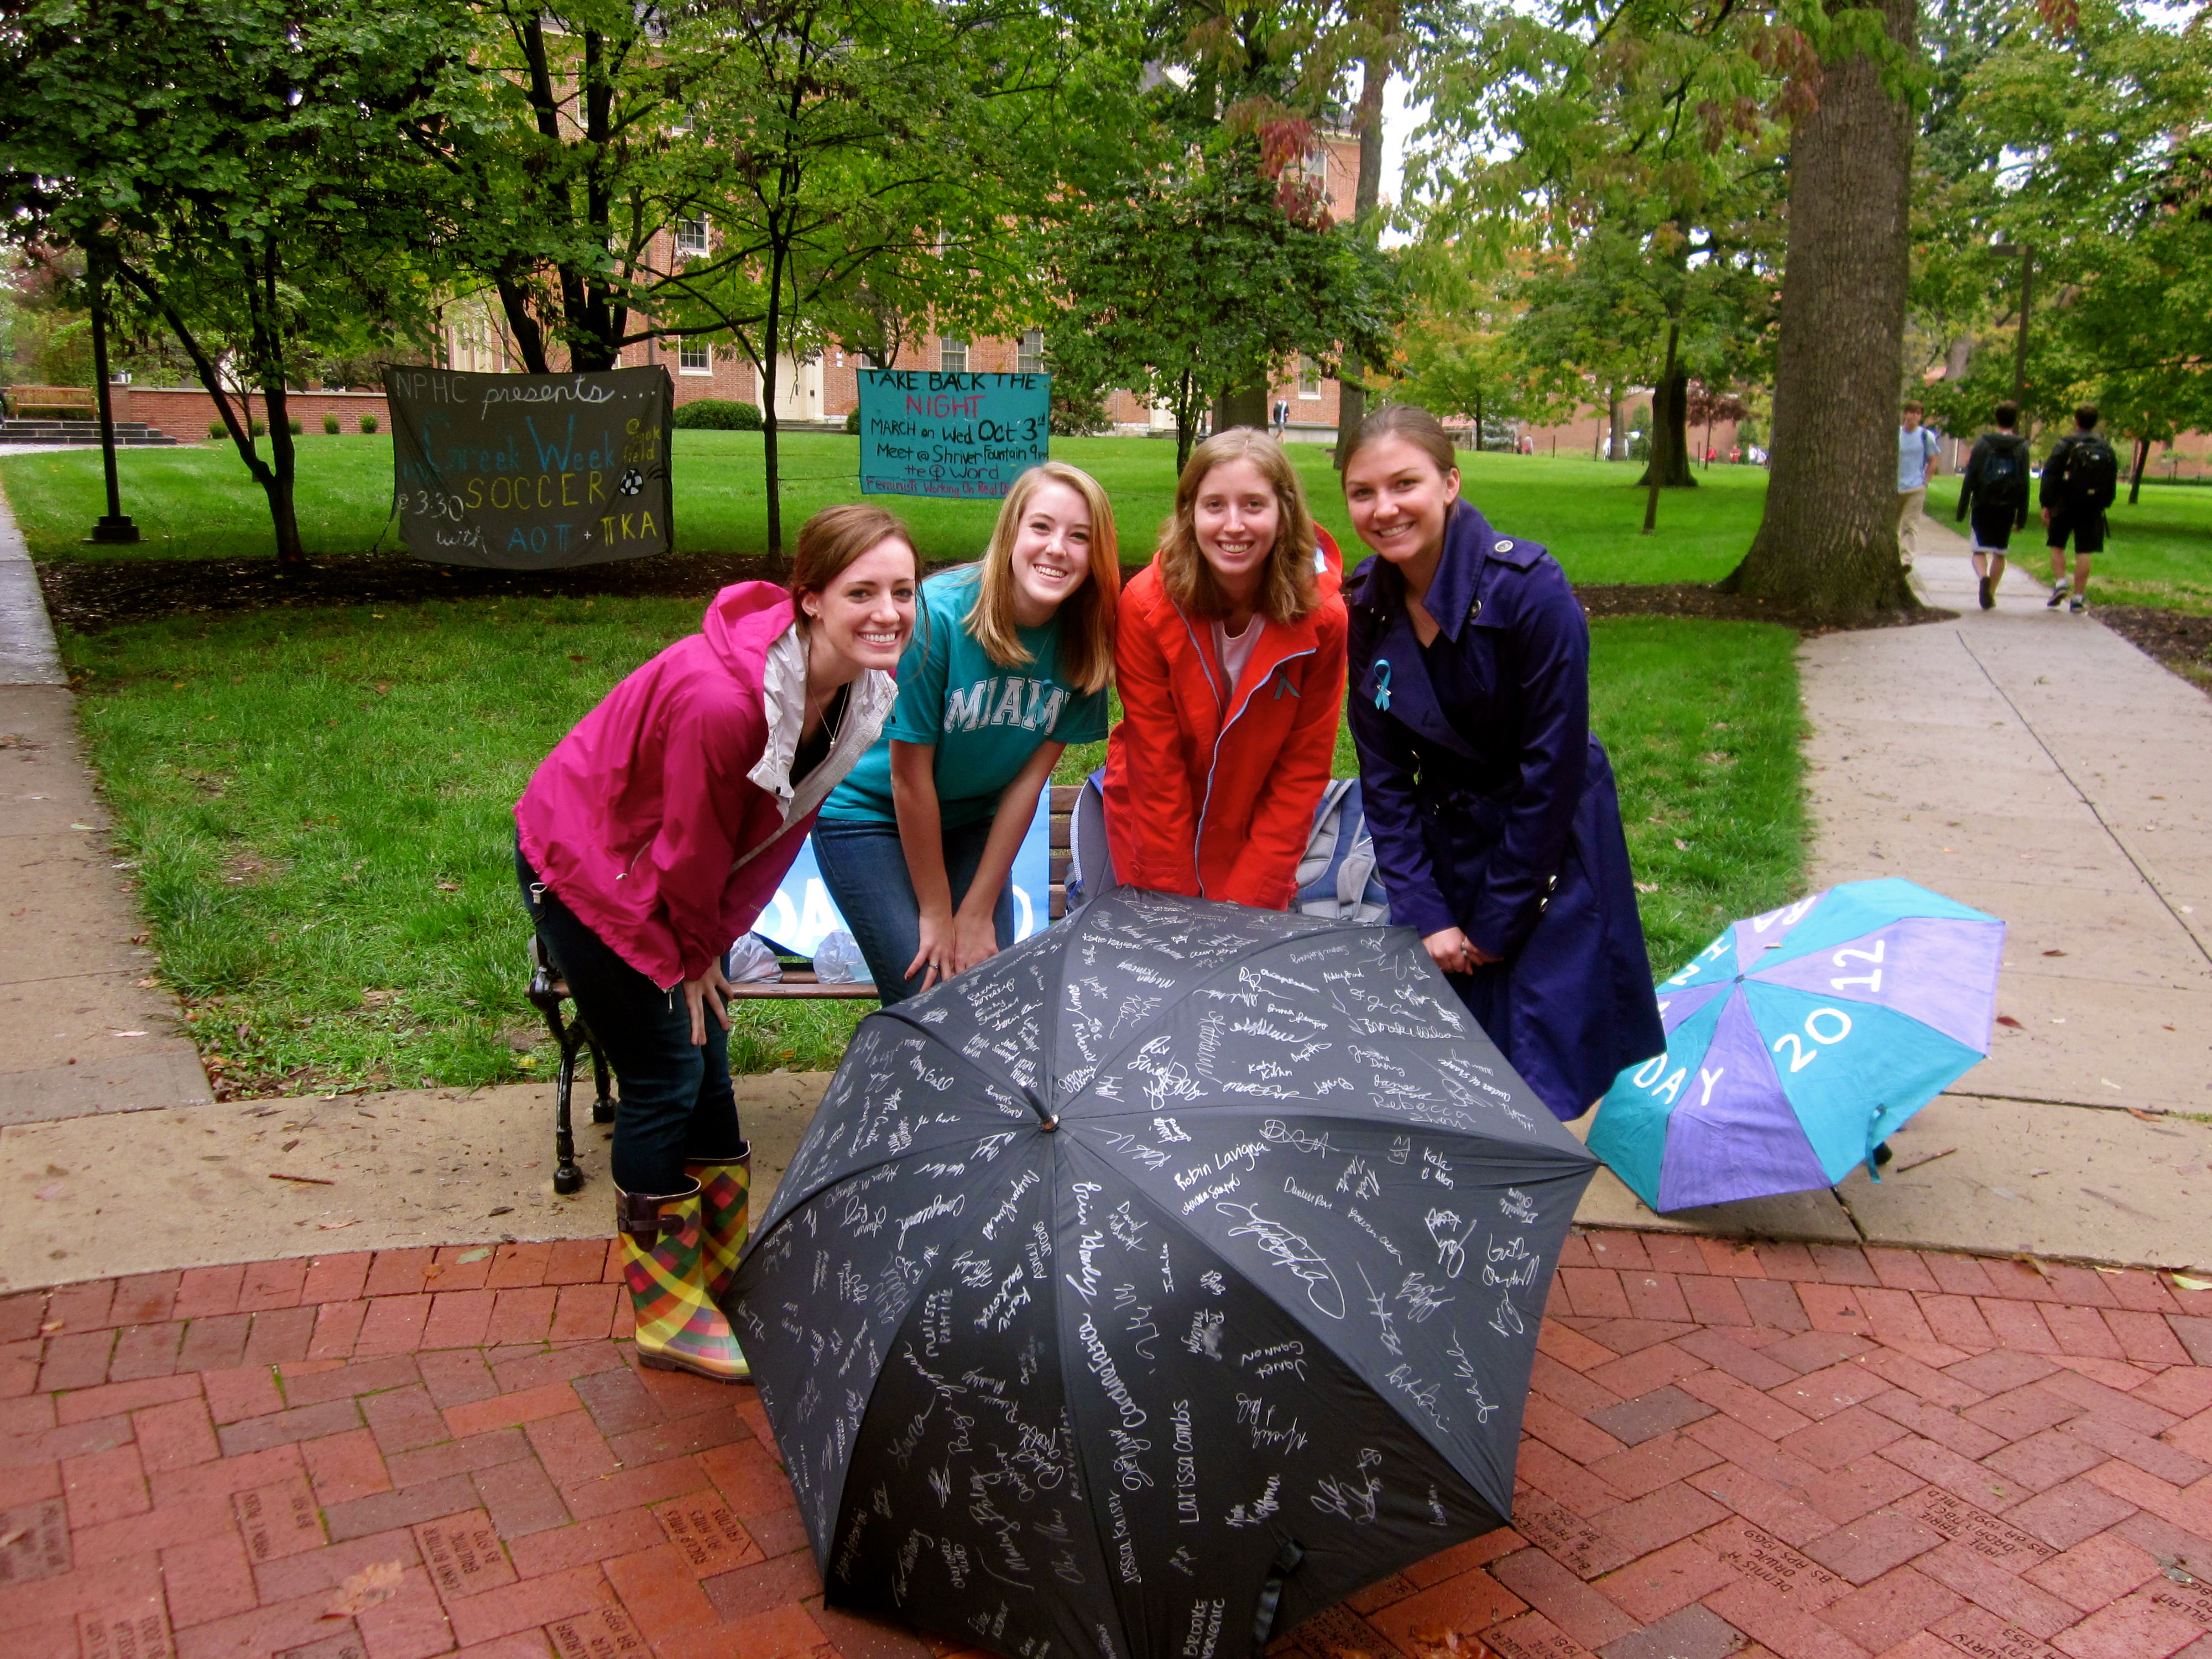
[[[64,639],[115,858],[210,1064],[248,1093],[544,1075],[511,803],[697,619],[690,599],[504,599]],[[1593,633],[1595,723],[1668,971],[1801,889],[1796,641],[1641,617]],[[1071,752],[1062,776],[1095,763]],[[743,1004],[732,1064],[834,1066],[865,1006]]]

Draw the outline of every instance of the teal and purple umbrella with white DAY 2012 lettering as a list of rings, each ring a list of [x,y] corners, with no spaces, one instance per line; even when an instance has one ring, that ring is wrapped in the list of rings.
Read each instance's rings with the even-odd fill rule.
[[[1995,916],[1900,878],[1732,922],[1659,984],[1668,1048],[1590,1150],[1652,1210],[1836,1186],[1989,1053],[2002,953]]]

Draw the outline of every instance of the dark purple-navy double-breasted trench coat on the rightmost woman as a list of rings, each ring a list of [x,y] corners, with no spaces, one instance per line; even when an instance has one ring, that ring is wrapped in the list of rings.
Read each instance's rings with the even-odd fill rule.
[[[1391,920],[1502,960],[1451,984],[1559,1117],[1666,1048],[1613,792],[1590,737],[1590,628],[1542,546],[1460,502],[1427,611],[1369,560],[1345,584],[1352,737]]]

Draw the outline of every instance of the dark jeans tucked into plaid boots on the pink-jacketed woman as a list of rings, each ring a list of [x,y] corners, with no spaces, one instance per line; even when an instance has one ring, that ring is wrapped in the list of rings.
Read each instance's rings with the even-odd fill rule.
[[[706,1011],[706,1042],[690,1040],[684,987],[661,991],[560,902],[515,847],[515,878],[531,925],[546,942],[622,1084],[615,1102],[615,1186],[664,1197],[686,1188],[684,1159],[728,1161],[745,1150],[730,1093],[730,1033]]]

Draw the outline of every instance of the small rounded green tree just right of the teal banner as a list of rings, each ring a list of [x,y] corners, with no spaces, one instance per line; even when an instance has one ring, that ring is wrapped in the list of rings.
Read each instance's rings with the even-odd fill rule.
[[[1206,407],[1296,356],[1336,374],[1389,354],[1402,290],[1389,261],[1270,177],[1239,144],[1086,206],[1062,234],[1055,374],[1175,411],[1175,465]]]

